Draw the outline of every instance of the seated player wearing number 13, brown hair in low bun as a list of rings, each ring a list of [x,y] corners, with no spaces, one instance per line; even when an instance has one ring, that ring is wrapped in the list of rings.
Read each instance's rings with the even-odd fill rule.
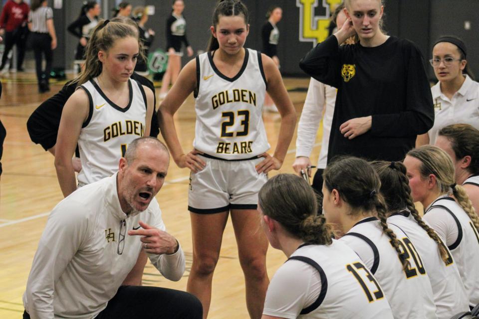
[[[314,191],[293,174],[274,176],[258,194],[261,226],[288,260],[271,279],[263,319],[393,318],[358,255],[331,239]]]

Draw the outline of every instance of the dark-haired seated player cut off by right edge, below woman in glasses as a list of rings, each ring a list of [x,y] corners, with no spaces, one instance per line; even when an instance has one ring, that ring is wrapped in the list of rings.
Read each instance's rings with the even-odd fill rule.
[[[436,139],[453,160],[454,179],[463,186],[479,212],[479,130],[469,124],[453,124],[442,128]]]

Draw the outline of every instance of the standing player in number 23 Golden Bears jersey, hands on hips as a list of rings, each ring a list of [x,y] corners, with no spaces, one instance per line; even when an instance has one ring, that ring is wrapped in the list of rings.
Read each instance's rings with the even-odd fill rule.
[[[257,192],[266,174],[279,169],[291,141],[296,114],[271,58],[243,48],[248,11],[239,0],[219,2],[207,53],[190,61],[162,102],[159,125],[179,167],[191,169],[188,209],[193,228],[193,265],[188,292],[208,314],[211,284],[223,231],[231,213],[251,318],[260,318],[268,286],[267,240],[257,231]],[[261,108],[267,92],[281,115],[273,156],[266,153]],[[193,151],[180,145],[173,115],[194,92],[196,127]]]

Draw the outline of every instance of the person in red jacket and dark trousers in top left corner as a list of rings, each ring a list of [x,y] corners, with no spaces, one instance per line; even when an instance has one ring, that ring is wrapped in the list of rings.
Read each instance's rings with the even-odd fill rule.
[[[23,71],[22,64],[25,57],[25,44],[28,35],[27,18],[30,10],[23,0],[8,0],[0,15],[0,35],[5,40],[5,50],[1,57],[0,70],[5,66],[13,44],[16,44],[17,60],[16,70]]]

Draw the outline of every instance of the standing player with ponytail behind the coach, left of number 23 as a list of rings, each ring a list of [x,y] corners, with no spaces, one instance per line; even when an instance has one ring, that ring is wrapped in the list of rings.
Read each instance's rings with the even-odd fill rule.
[[[128,144],[149,135],[153,92],[130,79],[140,47],[138,28],[129,19],[104,20],[94,29],[85,71],[75,80],[78,88],[63,108],[55,145],[55,168],[65,197],[77,188],[71,160],[77,144],[82,186],[115,173]],[[155,198],[152,205],[161,214]],[[146,259],[141,253],[139,269],[125,283],[141,284]]]

